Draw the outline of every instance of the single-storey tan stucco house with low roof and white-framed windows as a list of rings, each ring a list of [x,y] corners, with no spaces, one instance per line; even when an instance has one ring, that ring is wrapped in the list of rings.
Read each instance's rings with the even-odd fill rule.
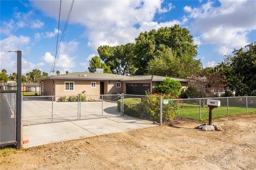
[[[61,74],[39,79],[41,81],[42,96],[70,96],[85,94],[111,95],[133,94],[145,95],[149,89],[153,91],[165,77],[156,75],[125,76],[108,73],[76,72]],[[187,79],[174,79],[181,82],[182,89],[188,86]]]

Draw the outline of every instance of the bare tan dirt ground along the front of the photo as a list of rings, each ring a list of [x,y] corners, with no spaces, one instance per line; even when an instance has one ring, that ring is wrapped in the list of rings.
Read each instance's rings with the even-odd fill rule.
[[[256,115],[213,123],[223,130],[154,126],[2,152],[0,169],[256,169]]]

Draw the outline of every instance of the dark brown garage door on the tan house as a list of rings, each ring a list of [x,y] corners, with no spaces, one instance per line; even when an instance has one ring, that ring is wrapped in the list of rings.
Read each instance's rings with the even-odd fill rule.
[[[145,95],[145,91],[150,88],[150,83],[127,83],[126,94]]]

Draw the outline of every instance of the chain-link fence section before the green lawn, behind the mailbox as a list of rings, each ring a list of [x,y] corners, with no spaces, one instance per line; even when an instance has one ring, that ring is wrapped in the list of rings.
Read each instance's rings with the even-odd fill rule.
[[[256,112],[256,97],[219,97],[196,99],[169,99],[163,103],[170,103],[167,108],[178,104],[178,114],[172,123],[204,121],[209,118],[207,99],[220,100],[220,106],[213,109],[213,118],[225,115],[246,114]],[[176,101],[175,103],[173,103]],[[163,104],[164,106],[165,104]],[[163,120],[164,121],[164,120]]]

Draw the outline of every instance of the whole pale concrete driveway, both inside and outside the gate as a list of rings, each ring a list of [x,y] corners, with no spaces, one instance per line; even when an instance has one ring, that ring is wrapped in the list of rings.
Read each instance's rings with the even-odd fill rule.
[[[154,126],[150,121],[121,116],[117,101],[23,99],[23,140],[29,140],[25,148]]]

